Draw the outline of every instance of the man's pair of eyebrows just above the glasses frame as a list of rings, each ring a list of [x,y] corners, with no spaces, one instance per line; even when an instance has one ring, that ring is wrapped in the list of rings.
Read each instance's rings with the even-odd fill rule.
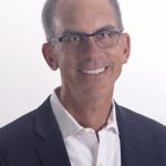
[[[104,25],[104,27],[100,27],[97,30],[95,30],[93,33],[97,33],[102,30],[110,30],[110,29],[117,29],[116,27],[114,25],[111,25],[111,24],[107,24],[107,25]],[[62,37],[63,35],[71,35],[71,34],[86,34],[85,32],[83,31],[74,31],[74,30],[70,30],[70,29],[66,29],[64,32],[62,32]]]

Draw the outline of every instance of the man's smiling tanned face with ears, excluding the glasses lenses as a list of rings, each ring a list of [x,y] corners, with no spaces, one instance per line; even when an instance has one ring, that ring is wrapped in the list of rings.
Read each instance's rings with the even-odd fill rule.
[[[107,25],[118,28],[107,0],[61,0],[58,9],[61,10],[55,21],[60,24],[61,35],[69,31],[94,33]],[[90,101],[112,94],[122,65],[129,55],[129,37],[121,34],[118,43],[107,49],[100,49],[90,37],[86,48],[77,52],[70,52],[61,43],[59,49],[48,50],[43,52],[49,65],[52,69],[59,66],[61,71],[62,94]]]

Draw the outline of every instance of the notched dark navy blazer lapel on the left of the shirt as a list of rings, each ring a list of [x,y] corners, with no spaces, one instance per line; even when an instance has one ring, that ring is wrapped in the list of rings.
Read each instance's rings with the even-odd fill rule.
[[[43,166],[71,166],[50,97],[37,110],[35,132],[43,139],[37,149]]]

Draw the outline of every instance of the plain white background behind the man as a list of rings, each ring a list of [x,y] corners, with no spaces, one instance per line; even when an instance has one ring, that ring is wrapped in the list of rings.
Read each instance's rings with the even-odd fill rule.
[[[0,126],[38,107],[60,85],[44,62],[44,0],[0,0]],[[165,1],[120,0],[132,53],[116,83],[122,105],[166,125]]]

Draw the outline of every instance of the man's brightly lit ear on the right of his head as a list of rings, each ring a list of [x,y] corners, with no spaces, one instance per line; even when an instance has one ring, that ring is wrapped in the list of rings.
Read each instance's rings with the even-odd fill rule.
[[[123,64],[127,63],[131,54],[131,37],[127,33],[122,34]]]

